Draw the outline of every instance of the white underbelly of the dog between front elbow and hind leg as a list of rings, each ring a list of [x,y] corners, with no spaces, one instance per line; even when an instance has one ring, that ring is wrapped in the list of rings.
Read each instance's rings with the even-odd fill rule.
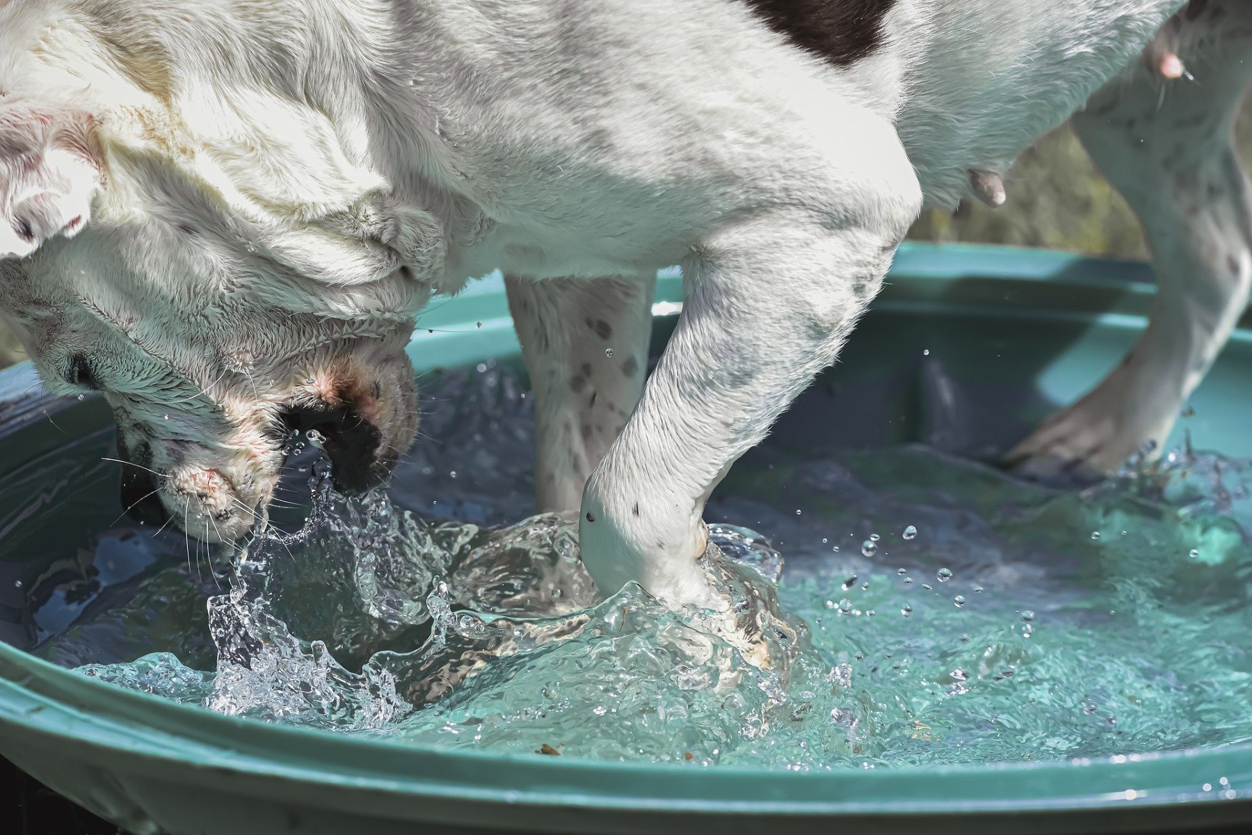
[[[928,202],[950,207],[967,195],[970,168],[1003,173],[1136,60],[1182,5],[940,0],[899,9],[888,21],[890,49],[906,66],[896,124]]]

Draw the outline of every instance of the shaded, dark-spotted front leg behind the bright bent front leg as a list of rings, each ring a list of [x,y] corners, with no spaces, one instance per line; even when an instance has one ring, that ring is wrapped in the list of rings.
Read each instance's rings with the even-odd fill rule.
[[[535,394],[541,512],[577,511],[647,377],[656,277],[506,277]]]

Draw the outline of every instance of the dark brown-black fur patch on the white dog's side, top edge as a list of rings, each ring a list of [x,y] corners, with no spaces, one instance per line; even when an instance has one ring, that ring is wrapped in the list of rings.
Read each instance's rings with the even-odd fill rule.
[[[774,31],[831,64],[846,66],[883,43],[895,0],[744,0]]]

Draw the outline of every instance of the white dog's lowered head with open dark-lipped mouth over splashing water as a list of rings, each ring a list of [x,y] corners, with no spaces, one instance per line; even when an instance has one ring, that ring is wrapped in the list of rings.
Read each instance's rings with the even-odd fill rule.
[[[113,407],[124,506],[237,538],[294,429],[342,488],[383,478],[417,427],[404,346],[439,224],[316,108],[138,84],[95,41],[58,50],[68,24],[24,65],[20,24],[0,31],[0,315],[49,389]],[[90,83],[59,54],[99,58]]]

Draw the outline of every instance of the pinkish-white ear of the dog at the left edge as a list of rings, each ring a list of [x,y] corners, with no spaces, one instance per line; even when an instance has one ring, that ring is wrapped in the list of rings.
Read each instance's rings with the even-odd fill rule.
[[[78,234],[103,180],[90,114],[0,96],[0,258]]]

